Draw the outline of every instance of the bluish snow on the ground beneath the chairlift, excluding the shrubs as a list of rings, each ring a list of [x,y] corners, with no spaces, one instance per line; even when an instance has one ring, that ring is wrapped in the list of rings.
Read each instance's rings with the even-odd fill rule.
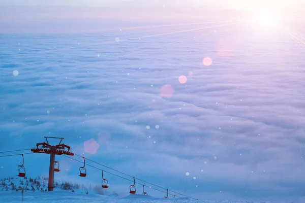
[[[27,178],[28,181],[28,188],[31,189],[31,184],[33,182],[29,181],[29,177]],[[20,181],[23,181],[23,184]],[[72,190],[63,190],[59,187],[55,187],[53,192],[41,192],[40,189],[43,188],[47,189],[48,180],[43,179],[35,179],[37,182],[41,184],[40,188],[37,189],[37,184],[34,184],[35,191],[27,190],[23,193],[23,201],[24,202],[193,202],[188,198],[176,198],[176,199],[165,199],[165,198],[156,198],[149,195],[142,195],[142,194],[130,194],[125,197],[119,197],[117,194],[109,194],[109,195],[102,195],[98,194],[95,190],[88,190],[86,188],[75,189]],[[6,186],[1,185],[4,182],[8,186],[8,191],[6,191]],[[8,178],[1,179],[0,181],[0,203],[5,202],[22,202],[22,191],[12,190],[11,183],[14,183],[15,187],[18,186],[25,186],[26,180],[23,178]],[[45,184],[43,184],[45,183]],[[59,185],[64,182],[57,182]],[[43,187],[43,185],[45,187]],[[4,188],[4,190],[2,190]],[[86,194],[88,191],[88,194]],[[198,201],[196,201],[198,202]]]

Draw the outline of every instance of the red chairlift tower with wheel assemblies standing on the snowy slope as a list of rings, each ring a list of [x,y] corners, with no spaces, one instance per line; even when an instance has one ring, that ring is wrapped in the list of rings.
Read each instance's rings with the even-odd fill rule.
[[[55,165],[55,155],[69,155],[74,156],[74,153],[70,152],[70,147],[68,145],[62,144],[64,138],[55,138],[55,137],[44,137],[46,139],[46,143],[37,143],[36,147],[31,149],[34,153],[44,153],[50,154],[50,170],[49,170],[49,184],[48,191],[53,191],[54,188],[54,165]],[[59,144],[52,146],[49,144],[48,139],[58,139]],[[40,147],[41,146],[41,147]]]

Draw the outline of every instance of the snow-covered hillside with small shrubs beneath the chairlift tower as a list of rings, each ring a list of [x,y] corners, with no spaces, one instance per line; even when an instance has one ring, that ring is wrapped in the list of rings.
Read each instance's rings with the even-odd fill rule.
[[[22,190],[24,202],[63,202],[63,203],[90,203],[90,202],[193,202],[189,199],[164,199],[155,198],[149,195],[131,194],[126,197],[119,197],[117,194],[103,195],[100,187],[90,188],[71,184],[69,182],[55,182],[53,192],[47,191],[47,178],[4,178],[0,179],[0,203],[22,202]],[[198,202],[198,201],[196,201]]]

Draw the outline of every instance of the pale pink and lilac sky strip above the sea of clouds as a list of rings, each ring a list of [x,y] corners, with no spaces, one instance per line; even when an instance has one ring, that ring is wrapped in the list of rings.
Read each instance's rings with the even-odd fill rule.
[[[203,22],[243,19],[262,11],[303,15],[303,0],[291,1],[19,1],[0,2],[0,32],[90,31],[130,23]]]

